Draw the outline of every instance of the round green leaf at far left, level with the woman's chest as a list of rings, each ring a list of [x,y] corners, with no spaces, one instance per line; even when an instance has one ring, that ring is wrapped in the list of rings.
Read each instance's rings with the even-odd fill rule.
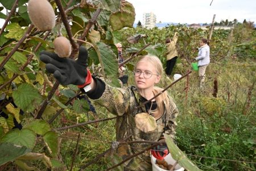
[[[42,102],[42,97],[30,84],[22,84],[17,90],[13,91],[15,105],[27,112],[34,111]]]

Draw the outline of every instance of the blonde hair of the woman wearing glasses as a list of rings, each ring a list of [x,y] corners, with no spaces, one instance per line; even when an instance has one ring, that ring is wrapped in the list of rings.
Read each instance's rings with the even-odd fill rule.
[[[161,76],[161,77],[163,76],[163,65],[157,56],[144,55],[141,57],[141,59],[138,62],[140,62],[140,61],[150,62],[152,65],[155,66],[156,72],[159,74],[159,76]],[[138,62],[137,62],[137,64],[138,64]],[[135,66],[135,69],[136,68],[137,68],[137,65]],[[160,93],[160,91],[162,91],[162,90],[163,89],[161,89],[160,87],[154,86],[153,94],[156,95],[156,94]],[[152,114],[161,114],[162,115],[164,112],[164,103],[166,103],[166,110],[169,109],[170,101],[168,99],[167,91],[164,91],[164,93],[158,95],[158,97],[156,97],[155,100],[156,100],[156,104],[158,107],[155,110],[151,111]]]

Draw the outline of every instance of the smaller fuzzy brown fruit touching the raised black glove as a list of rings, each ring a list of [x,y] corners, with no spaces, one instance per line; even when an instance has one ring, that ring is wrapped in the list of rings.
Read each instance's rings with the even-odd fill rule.
[[[59,57],[69,57],[71,55],[71,44],[66,37],[57,37],[53,41],[54,51]]]

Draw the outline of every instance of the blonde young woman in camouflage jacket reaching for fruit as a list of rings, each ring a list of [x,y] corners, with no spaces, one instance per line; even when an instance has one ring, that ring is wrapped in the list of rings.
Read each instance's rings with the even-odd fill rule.
[[[117,141],[126,137],[129,137],[127,141],[159,141],[163,133],[174,137],[178,110],[167,91],[138,107],[163,90],[155,86],[163,74],[163,66],[158,57],[143,56],[135,66],[136,86],[123,88],[109,86],[100,78],[92,76],[86,69],[87,58],[88,52],[84,47],[80,47],[76,61],[60,58],[55,53],[40,53],[40,59],[47,64],[48,72],[53,73],[61,84],[78,85],[92,101],[119,116],[115,127]],[[145,147],[148,144],[119,145],[117,156],[120,160],[117,162]],[[149,151],[127,161],[122,167],[122,170],[152,170]]]

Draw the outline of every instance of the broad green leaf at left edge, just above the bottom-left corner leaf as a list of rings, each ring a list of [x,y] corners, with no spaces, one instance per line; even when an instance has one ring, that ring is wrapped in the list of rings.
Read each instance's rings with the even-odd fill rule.
[[[1,139],[1,142],[9,142],[15,145],[24,145],[27,148],[33,149],[35,146],[36,134],[29,129],[11,130],[7,132]]]

